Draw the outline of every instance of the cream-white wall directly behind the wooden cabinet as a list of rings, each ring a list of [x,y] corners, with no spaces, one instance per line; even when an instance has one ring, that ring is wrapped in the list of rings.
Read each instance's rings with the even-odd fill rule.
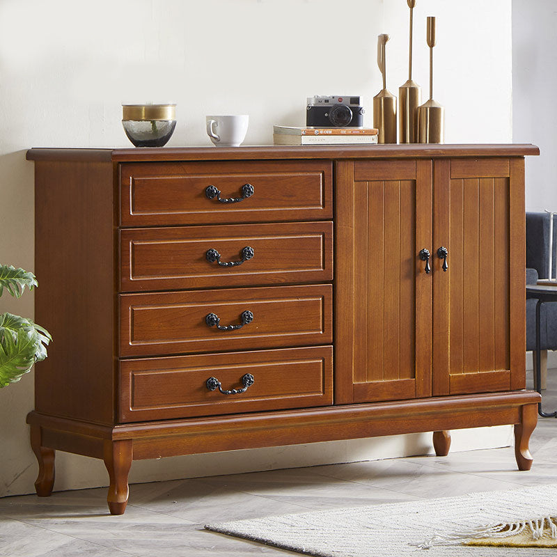
[[[448,143],[511,139],[510,13],[510,0],[418,0],[414,79],[427,84],[425,17],[438,15],[434,96],[446,106]],[[407,79],[407,25],[405,0],[1,0],[0,261],[33,269],[27,148],[129,146],[122,101],[177,102],[173,146],[210,145],[205,114],[219,112],[249,113],[246,143],[271,143],[274,123],[304,123],[306,96],[314,94],[364,95],[370,125],[370,101],[381,87],[377,34],[391,34],[388,85],[396,93]],[[0,308],[33,315],[33,297],[4,296]],[[0,390],[0,496],[33,489],[25,425],[32,408],[31,376]],[[464,432],[454,446],[501,445],[508,434],[508,427]],[[237,451],[136,462],[131,479],[427,450],[430,436],[420,434]],[[56,489],[106,485],[102,462],[57,460]]]

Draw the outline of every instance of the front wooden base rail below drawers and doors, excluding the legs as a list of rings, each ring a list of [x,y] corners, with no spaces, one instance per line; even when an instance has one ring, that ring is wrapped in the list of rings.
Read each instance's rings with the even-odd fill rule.
[[[400,402],[375,402],[237,414],[120,425],[115,427],[113,437],[133,439],[134,457],[141,459],[149,458],[151,450],[163,450],[168,455],[169,450],[179,446],[184,450],[182,454],[188,454],[296,444],[300,437],[293,432],[306,442],[317,442],[419,432],[431,426],[434,431],[441,431],[520,423],[521,407],[539,399],[538,393],[515,391],[409,400],[403,412]],[[150,441],[157,438],[160,439],[157,447],[150,449]]]

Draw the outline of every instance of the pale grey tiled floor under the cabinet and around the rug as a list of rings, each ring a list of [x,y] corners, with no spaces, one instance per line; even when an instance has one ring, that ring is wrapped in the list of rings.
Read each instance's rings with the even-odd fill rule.
[[[557,409],[557,370],[544,394]],[[203,531],[207,521],[373,505],[557,483],[557,419],[540,418],[533,469],[512,448],[130,486],[125,515],[107,515],[106,488],[0,499],[0,556],[248,557],[297,555]]]

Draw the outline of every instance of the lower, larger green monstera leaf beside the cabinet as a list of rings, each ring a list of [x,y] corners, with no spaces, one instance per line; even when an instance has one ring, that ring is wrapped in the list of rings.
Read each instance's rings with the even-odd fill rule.
[[[33,363],[44,360],[47,357],[46,347],[50,340],[52,337],[49,332],[40,325],[19,315],[2,313],[0,315],[0,388],[19,381],[24,373],[31,371]]]

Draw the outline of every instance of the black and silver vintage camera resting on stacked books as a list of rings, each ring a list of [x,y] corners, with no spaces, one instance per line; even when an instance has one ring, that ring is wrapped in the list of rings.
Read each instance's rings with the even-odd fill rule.
[[[306,126],[361,127],[363,107],[360,97],[308,97]]]

